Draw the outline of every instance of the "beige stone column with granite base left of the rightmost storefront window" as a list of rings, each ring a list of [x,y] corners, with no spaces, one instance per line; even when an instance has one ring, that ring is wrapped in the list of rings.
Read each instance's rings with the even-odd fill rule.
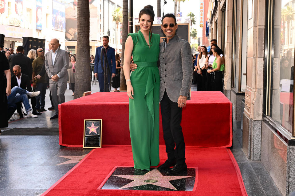
[[[243,113],[243,150],[251,160],[261,159],[265,0],[253,0],[248,19],[247,82]]]

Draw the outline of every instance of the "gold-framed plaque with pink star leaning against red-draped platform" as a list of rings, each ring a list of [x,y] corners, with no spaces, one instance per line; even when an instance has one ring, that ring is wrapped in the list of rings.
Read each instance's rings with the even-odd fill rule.
[[[83,148],[101,148],[102,119],[84,119]]]

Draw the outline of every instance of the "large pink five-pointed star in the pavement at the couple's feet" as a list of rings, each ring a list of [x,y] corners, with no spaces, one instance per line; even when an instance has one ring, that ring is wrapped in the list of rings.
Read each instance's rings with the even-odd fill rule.
[[[194,175],[183,175],[183,176],[162,175],[162,173],[159,172],[158,169],[153,169],[144,175],[114,175],[114,176],[133,180],[131,183],[124,185],[120,189],[152,184],[159,187],[177,190],[169,182],[170,180],[189,178],[189,177],[193,177]]]

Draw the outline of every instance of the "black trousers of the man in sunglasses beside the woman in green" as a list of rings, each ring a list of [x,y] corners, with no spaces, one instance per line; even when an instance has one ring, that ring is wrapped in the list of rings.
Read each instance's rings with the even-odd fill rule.
[[[166,90],[161,100],[161,115],[168,159],[176,159],[178,164],[183,164],[185,162],[185,143],[180,126],[182,108],[169,99]]]

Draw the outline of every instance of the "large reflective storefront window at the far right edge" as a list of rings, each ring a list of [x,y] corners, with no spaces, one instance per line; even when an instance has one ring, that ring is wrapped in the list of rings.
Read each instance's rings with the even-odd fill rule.
[[[295,9],[293,0],[272,0],[269,13],[270,89],[268,114],[277,124],[293,133],[293,84]]]

